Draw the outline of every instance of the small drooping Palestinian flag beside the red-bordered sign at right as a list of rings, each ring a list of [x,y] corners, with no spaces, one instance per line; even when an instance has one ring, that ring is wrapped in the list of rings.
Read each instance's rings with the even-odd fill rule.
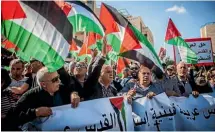
[[[168,27],[166,30],[165,42],[167,44],[171,44],[173,46],[178,47],[182,61],[188,64],[197,63],[198,60],[196,53],[192,51],[187,42],[182,39],[181,34],[176,28],[172,19],[169,19]]]

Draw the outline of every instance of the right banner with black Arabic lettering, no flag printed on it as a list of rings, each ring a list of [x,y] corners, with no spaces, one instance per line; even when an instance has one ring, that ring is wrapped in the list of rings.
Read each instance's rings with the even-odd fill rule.
[[[215,92],[194,98],[139,98],[132,104],[135,130],[211,131],[215,130]]]

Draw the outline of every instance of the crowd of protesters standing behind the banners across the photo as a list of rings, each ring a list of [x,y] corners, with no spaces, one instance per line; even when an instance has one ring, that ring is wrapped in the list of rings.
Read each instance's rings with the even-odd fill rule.
[[[92,60],[70,62],[56,72],[49,72],[42,62],[32,59],[25,63],[9,57],[10,71],[1,68],[2,130],[20,130],[19,126],[36,117],[52,114],[51,107],[123,95],[132,100],[165,92],[167,96],[194,96],[215,91],[215,67],[197,70],[184,62],[154,66],[149,69],[131,63],[123,69],[122,77],[105,65],[106,44],[99,55],[92,52]],[[4,58],[5,59],[5,58]]]

